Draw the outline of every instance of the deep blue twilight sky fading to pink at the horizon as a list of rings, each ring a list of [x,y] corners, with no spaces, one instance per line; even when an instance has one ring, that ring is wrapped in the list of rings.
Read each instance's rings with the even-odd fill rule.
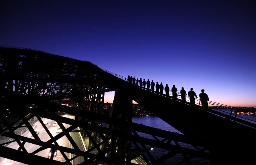
[[[253,2],[5,1],[0,45],[87,60],[230,106],[256,106]],[[112,102],[112,94],[105,102]]]

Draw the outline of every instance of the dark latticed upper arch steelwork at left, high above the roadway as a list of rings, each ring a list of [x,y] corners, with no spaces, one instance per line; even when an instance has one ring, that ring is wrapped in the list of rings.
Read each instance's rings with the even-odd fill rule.
[[[102,81],[100,69],[86,61],[38,51],[0,48],[0,64],[1,88],[24,95],[67,99],[68,96],[102,95],[111,91]]]

